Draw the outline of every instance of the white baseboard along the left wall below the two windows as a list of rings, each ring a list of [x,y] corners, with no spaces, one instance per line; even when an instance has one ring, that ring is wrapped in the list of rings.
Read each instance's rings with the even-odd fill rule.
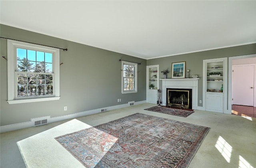
[[[140,102],[135,102],[134,105],[143,104],[143,103],[146,103],[146,100],[140,101]],[[116,105],[116,106],[88,110],[88,111],[84,111],[84,112],[77,112],[74,114],[67,114],[64,116],[52,117],[49,119],[48,123],[62,121],[62,120],[68,120],[71,118],[77,118],[77,117],[82,117],[82,116],[87,116],[90,114],[100,113],[101,109],[105,109],[105,108],[107,108],[108,111],[110,111],[110,110],[116,110],[116,109],[120,109],[120,108],[124,108],[124,107],[128,107],[128,106],[129,106],[128,103],[126,103],[126,104],[120,104],[120,105]],[[10,125],[6,125],[6,126],[0,126],[0,133],[14,131],[14,130],[20,130],[20,129],[28,128],[28,127],[32,127],[32,126],[33,126],[33,123],[31,121],[17,123],[17,124],[10,124]]]

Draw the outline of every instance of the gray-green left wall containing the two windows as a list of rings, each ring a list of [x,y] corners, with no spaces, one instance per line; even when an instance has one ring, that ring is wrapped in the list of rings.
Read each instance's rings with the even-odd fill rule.
[[[0,35],[6,38],[68,48],[60,50],[60,100],[8,104],[7,40],[0,45],[0,125],[28,122],[30,118],[62,116],[76,112],[146,100],[146,60],[100,48],[78,44],[60,38],[0,25]],[[138,92],[121,93],[121,62],[138,62]],[[121,98],[122,102],[117,102]],[[64,106],[68,110],[64,111]]]

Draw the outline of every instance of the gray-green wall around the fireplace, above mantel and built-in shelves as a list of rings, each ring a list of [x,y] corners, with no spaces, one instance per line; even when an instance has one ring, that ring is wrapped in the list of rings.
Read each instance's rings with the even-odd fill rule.
[[[186,70],[190,70],[190,77],[193,74],[197,74],[198,78],[198,106],[202,106],[199,103],[199,100],[203,98],[203,60],[211,58],[222,58],[222,57],[232,57],[232,56],[242,56],[256,54],[256,44],[248,44],[243,46],[222,48],[216,50],[208,50],[202,52],[194,52],[190,54],[182,54],[176,56],[169,56],[164,58],[155,58],[147,60],[147,65],[156,65],[159,64],[159,71],[168,68],[171,70],[172,62],[183,62],[186,61]],[[163,75],[160,73],[160,78],[163,78]],[[171,72],[168,73],[167,78],[171,78]],[[162,80],[159,83],[162,88]],[[204,101],[204,100],[202,100]]]

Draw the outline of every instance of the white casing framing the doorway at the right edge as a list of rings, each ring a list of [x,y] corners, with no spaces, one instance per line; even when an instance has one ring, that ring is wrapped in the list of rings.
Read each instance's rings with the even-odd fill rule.
[[[254,57],[256,57],[256,54],[244,55],[244,56],[232,56],[228,58],[228,109],[227,109],[228,114],[231,114],[231,111],[232,111],[232,60],[242,59],[242,58],[254,58]],[[255,83],[254,83],[254,88],[256,88]],[[254,100],[254,106],[255,105],[256,105],[256,100]]]

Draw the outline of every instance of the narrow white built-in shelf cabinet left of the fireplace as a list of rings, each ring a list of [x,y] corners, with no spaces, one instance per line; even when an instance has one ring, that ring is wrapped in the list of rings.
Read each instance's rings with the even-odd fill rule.
[[[147,66],[147,102],[157,102],[157,90],[159,89],[159,65]]]

